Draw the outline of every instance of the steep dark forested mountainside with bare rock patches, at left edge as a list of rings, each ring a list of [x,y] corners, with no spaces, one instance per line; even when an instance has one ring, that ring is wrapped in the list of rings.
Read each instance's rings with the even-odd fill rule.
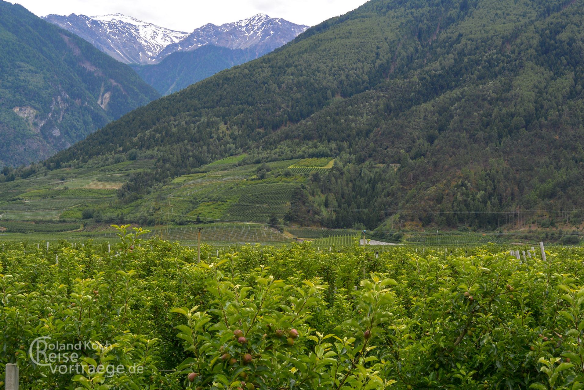
[[[158,96],[128,66],[0,1],[0,164],[46,159]]]

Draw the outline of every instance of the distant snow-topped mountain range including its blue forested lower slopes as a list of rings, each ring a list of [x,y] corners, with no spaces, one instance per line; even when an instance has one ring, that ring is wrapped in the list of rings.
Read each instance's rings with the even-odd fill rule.
[[[308,29],[264,14],[221,26],[206,24],[190,34],[119,13],[91,17],[72,13],[44,19],[130,64],[161,94],[176,92],[223,69],[261,57]]]

